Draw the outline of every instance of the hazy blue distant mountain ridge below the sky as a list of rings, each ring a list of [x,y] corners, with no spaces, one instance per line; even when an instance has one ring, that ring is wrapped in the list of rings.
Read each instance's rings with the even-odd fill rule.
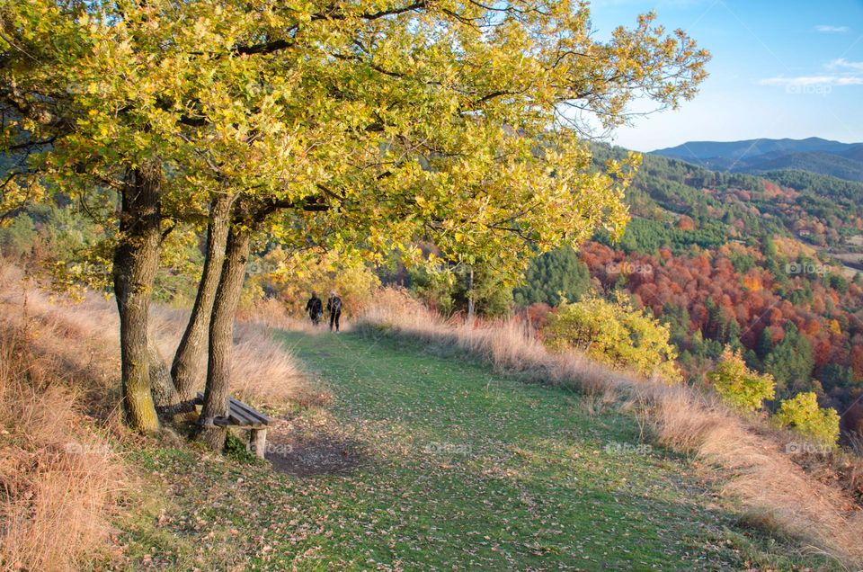
[[[692,141],[653,153],[717,171],[758,174],[796,169],[829,174],[846,181],[863,181],[863,143],[841,143],[817,137]]]

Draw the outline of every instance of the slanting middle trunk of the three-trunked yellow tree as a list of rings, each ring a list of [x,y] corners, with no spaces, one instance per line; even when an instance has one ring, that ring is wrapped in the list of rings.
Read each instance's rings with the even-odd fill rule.
[[[222,263],[225,260],[232,202],[230,195],[219,194],[213,199],[209,210],[207,254],[198,284],[198,295],[171,366],[171,377],[182,400],[194,398],[195,388],[200,381],[213,299],[216,298]]]

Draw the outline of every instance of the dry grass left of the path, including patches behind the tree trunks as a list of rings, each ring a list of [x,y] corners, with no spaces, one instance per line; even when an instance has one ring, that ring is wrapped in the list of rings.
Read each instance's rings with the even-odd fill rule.
[[[154,308],[163,355],[185,318]],[[111,300],[50,299],[0,261],[0,569],[74,570],[110,546],[134,475],[110,445],[134,439],[120,423],[118,329]],[[282,407],[325,398],[266,326],[236,327],[234,362],[235,394],[245,400]]]

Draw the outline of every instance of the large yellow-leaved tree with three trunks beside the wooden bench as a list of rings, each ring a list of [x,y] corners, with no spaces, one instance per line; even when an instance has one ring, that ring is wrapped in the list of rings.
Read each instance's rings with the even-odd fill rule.
[[[576,245],[598,227],[619,234],[635,159],[594,172],[584,114],[613,127],[641,95],[674,107],[708,58],[652,14],[595,40],[587,5],[567,0],[4,0],[0,13],[3,147],[39,151],[0,201],[38,199],[43,181],[78,199],[120,196],[124,403],[143,430],[156,426],[148,300],[180,223],[209,219],[213,252],[173,371],[183,380],[206,324],[215,418],[227,413],[227,358],[213,353],[227,353],[213,346],[229,351],[238,266],[255,237],[370,257],[396,248],[414,261],[414,241],[433,237],[459,264],[494,253],[515,272],[529,248]]]

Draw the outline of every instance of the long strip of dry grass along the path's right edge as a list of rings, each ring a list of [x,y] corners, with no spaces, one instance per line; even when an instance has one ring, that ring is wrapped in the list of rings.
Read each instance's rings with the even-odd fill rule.
[[[784,452],[787,435],[734,416],[696,389],[638,380],[583,355],[549,353],[518,320],[447,322],[400,290],[383,290],[376,300],[360,317],[360,328],[480,356],[527,380],[581,389],[591,397],[590,407],[606,393],[601,403],[618,400],[618,407],[635,411],[655,442],[718,469],[723,492],[742,505],[742,523],[795,537],[849,568],[863,566],[859,506],[840,487],[807,475]]]

